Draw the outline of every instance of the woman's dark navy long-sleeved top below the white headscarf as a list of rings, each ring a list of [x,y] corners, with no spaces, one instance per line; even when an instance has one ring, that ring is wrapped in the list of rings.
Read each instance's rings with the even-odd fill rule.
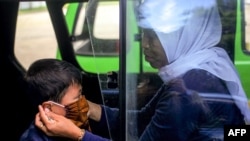
[[[183,75],[182,79],[190,91],[230,97],[224,82],[205,70],[190,70]],[[171,91],[181,94],[171,94]],[[119,119],[118,114],[114,114],[118,110],[105,106],[103,108],[110,121],[111,135],[118,135],[116,131],[119,131],[119,127],[114,124]],[[132,114],[135,113],[132,112]],[[195,96],[189,92],[183,93],[178,86],[169,87],[165,84],[136,114],[138,140],[141,141],[223,140],[224,125],[245,124],[242,114],[232,99],[217,98],[216,95],[214,97]],[[104,121],[106,120],[102,119],[102,122]]]

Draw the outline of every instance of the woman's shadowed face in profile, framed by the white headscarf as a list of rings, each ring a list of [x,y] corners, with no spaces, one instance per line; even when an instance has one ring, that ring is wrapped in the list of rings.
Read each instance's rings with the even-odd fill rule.
[[[145,60],[153,68],[159,69],[168,64],[166,53],[153,30],[143,29],[142,47],[144,49]]]

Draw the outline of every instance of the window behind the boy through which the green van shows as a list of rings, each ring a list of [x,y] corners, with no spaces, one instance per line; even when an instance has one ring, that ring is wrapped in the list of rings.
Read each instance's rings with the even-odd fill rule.
[[[66,13],[78,63],[91,73],[118,71],[119,3],[99,1],[86,9],[87,5],[70,4]]]

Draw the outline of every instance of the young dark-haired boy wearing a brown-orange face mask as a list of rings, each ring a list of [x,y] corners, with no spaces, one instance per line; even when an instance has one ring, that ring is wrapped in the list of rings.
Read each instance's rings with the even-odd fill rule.
[[[79,128],[90,131],[87,118],[89,107],[85,96],[82,95],[82,75],[78,68],[66,61],[40,59],[31,64],[25,80],[28,86],[27,94],[35,107],[43,105],[45,109],[67,117]],[[40,127],[43,126],[41,121]],[[68,140],[47,136],[32,122],[20,141],[64,139]]]

